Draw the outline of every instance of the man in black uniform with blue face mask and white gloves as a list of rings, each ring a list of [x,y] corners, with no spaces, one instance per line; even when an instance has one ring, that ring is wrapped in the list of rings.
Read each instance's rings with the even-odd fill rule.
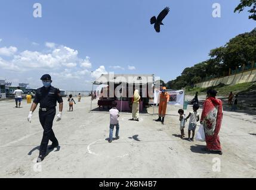
[[[58,140],[54,135],[53,132],[53,120],[56,113],[56,103],[59,103],[59,112],[57,115],[57,121],[60,121],[62,109],[63,109],[63,100],[60,95],[60,90],[58,88],[54,88],[51,86],[52,80],[51,76],[45,74],[41,77],[42,83],[44,87],[38,88],[36,90],[35,99],[33,104],[30,108],[29,116],[27,117],[27,121],[31,122],[32,113],[36,109],[38,103],[40,103],[39,108],[39,120],[44,128],[44,134],[42,137],[41,145],[40,145],[40,152],[38,157],[38,162],[44,160],[44,157],[47,153],[47,145],[49,140],[53,142],[49,149],[53,149],[58,147]]]

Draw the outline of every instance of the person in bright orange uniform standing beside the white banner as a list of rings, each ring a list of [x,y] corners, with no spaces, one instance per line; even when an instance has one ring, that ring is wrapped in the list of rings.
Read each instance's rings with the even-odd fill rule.
[[[160,94],[160,97],[159,97],[159,110],[158,110],[159,118],[156,120],[156,121],[161,121],[162,124],[164,124],[164,121],[165,121],[165,113],[166,113],[166,107],[168,102],[169,102],[169,94],[166,93],[166,87],[163,87],[162,93]]]

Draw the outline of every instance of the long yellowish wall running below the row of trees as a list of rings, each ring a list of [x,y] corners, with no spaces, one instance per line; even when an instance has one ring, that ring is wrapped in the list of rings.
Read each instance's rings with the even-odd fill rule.
[[[230,84],[240,84],[240,83],[251,83],[255,81],[256,81],[256,69],[253,69],[251,71],[240,72],[238,74],[230,75],[227,77],[215,78],[213,80],[205,81],[195,85],[196,87],[207,88],[207,87],[218,85],[220,83],[230,85]]]

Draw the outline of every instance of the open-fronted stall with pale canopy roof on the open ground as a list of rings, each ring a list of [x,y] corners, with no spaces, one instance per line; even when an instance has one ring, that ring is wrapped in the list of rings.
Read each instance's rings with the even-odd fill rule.
[[[121,111],[131,110],[132,96],[137,89],[141,96],[140,111],[142,111],[149,106],[149,99],[153,97],[154,81],[153,74],[102,74],[92,83],[92,89],[93,85],[106,85],[107,87],[101,90],[98,106],[111,106],[115,100],[118,103],[116,108]]]

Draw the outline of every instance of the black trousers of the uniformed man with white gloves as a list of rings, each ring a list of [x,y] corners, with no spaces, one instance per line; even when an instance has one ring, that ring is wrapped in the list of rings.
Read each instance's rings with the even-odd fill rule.
[[[53,142],[53,144],[57,144],[58,140],[53,132],[53,120],[56,114],[56,109],[50,109],[46,112],[39,110],[39,121],[44,129],[44,134],[42,137],[39,155],[44,155],[47,153],[47,146],[49,140]]]

